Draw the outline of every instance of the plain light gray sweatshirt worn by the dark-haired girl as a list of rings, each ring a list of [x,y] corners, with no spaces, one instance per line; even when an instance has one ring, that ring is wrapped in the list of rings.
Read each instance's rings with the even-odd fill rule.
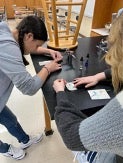
[[[33,95],[42,86],[43,81],[32,77],[23,64],[18,43],[14,40],[7,24],[0,22],[0,112],[15,85],[23,94]]]

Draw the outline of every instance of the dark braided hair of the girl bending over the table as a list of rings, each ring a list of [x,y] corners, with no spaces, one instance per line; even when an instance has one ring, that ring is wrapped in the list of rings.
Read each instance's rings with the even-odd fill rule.
[[[32,33],[34,39],[47,41],[47,30],[44,22],[37,16],[27,16],[25,17],[16,27],[18,30],[18,42],[20,50],[22,53],[23,62],[28,65],[28,61],[24,57],[24,35]]]

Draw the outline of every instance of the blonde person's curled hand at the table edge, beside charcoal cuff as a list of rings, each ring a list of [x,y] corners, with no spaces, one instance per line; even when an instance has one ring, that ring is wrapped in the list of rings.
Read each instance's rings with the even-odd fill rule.
[[[66,81],[64,79],[55,80],[53,83],[53,88],[54,88],[55,92],[58,93],[60,91],[64,91],[65,84],[66,84]]]

